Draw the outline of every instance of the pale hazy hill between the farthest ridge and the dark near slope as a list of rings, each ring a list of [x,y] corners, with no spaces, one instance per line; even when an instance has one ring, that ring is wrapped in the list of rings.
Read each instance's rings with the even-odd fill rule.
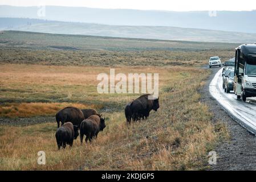
[[[0,18],[1,30],[196,42],[253,43],[256,34],[164,26],[112,26],[40,19]]]

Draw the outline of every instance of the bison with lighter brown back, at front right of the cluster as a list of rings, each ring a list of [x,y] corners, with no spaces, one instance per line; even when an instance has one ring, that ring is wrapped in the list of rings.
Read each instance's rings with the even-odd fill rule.
[[[83,137],[86,135],[86,142],[88,139],[92,140],[92,138],[97,138],[97,134],[100,131],[103,131],[105,128],[105,118],[100,118],[98,115],[91,115],[80,125],[80,140],[81,144],[83,144]]]

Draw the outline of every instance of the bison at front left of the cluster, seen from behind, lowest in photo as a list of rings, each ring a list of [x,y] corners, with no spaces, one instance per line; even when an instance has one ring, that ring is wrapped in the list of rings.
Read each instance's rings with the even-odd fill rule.
[[[73,141],[78,138],[78,135],[78,126],[73,125],[71,122],[64,123],[64,125],[59,127],[55,133],[59,150],[61,146],[66,148],[66,144],[69,144],[72,147]]]

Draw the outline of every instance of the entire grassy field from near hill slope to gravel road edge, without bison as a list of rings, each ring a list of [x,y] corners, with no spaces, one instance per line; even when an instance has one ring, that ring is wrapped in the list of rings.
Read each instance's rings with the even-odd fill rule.
[[[210,56],[233,57],[235,46],[0,32],[0,169],[206,169],[208,152],[229,134],[200,102],[210,73],[200,67]],[[97,75],[110,68],[159,73],[160,109],[127,126],[124,106],[140,94],[97,93]],[[92,143],[58,151],[53,116],[68,105],[99,110],[107,127]],[[46,165],[37,164],[41,150]]]

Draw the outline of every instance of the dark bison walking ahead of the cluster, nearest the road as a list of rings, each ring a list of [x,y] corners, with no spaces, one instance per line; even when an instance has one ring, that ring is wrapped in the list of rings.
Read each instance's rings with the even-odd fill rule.
[[[132,120],[140,120],[141,118],[147,119],[151,110],[157,111],[159,109],[159,98],[151,100],[149,97],[153,96],[151,94],[144,94],[125,106],[125,117],[128,123],[131,123]]]

